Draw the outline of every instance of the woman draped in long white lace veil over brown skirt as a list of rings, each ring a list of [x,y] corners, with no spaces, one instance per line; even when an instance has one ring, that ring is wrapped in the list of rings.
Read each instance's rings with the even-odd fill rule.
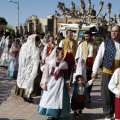
[[[38,74],[40,60],[39,43],[39,36],[35,34],[30,35],[27,42],[22,45],[19,54],[19,69],[15,93],[23,97],[27,102],[33,102],[31,93],[33,91],[34,79]]]

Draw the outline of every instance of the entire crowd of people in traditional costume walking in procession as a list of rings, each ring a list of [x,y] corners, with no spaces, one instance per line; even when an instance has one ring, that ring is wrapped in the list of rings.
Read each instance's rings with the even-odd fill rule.
[[[48,119],[59,120],[71,111],[74,118],[80,118],[84,105],[92,102],[93,82],[101,67],[105,120],[120,120],[120,27],[112,26],[111,38],[99,44],[91,31],[84,33],[80,44],[70,29],[66,38],[57,35],[46,34],[40,39],[33,33],[26,40],[1,36],[0,66],[16,78],[15,94],[29,103],[41,96],[38,114],[51,117]]]

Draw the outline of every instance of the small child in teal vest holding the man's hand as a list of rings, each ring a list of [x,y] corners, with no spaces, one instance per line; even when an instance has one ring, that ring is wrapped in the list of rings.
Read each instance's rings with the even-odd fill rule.
[[[71,92],[73,92],[71,108],[74,112],[75,118],[79,118],[82,114],[82,110],[84,109],[85,98],[87,97],[86,88],[92,83],[93,79],[85,83],[84,77],[82,75],[76,76],[74,86],[71,88]]]

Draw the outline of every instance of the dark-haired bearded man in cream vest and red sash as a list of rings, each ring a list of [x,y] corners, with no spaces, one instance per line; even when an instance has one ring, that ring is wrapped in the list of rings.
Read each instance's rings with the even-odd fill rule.
[[[91,80],[92,66],[94,59],[97,55],[98,45],[93,41],[91,31],[86,31],[84,33],[84,37],[85,37],[85,41],[78,46],[75,55],[75,60],[77,61],[78,58],[84,59],[87,69],[87,81],[89,81]],[[91,89],[92,89],[92,85],[87,88],[89,99],[86,102],[91,102],[90,101]]]

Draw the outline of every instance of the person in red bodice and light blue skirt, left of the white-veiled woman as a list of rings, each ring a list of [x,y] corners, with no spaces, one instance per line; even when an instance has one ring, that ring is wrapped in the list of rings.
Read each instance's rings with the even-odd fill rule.
[[[8,76],[13,78],[17,77],[18,73],[18,57],[19,57],[19,39],[15,40],[12,47],[9,50],[9,61],[8,61]]]

